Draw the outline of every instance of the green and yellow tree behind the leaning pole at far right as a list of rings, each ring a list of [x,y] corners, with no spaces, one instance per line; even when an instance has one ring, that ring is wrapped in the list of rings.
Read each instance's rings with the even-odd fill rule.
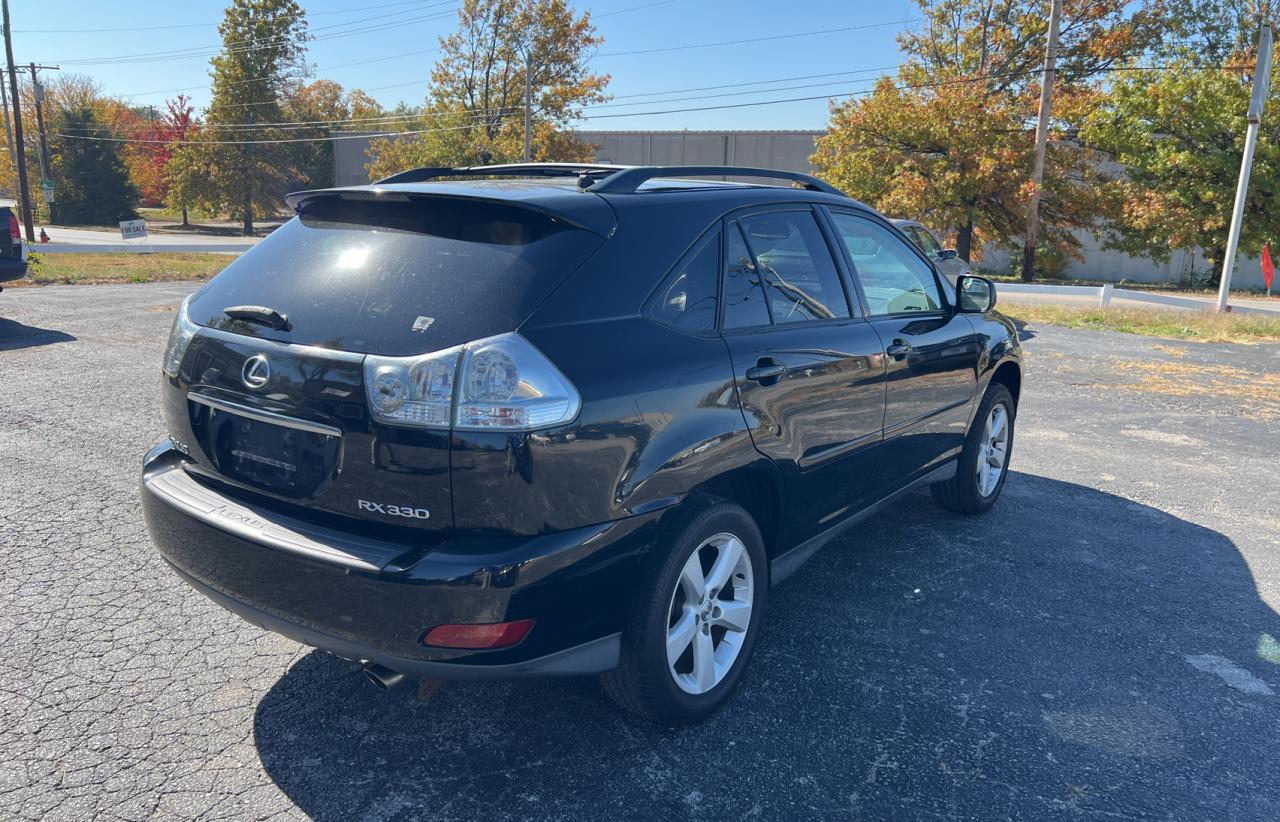
[[[1171,18],[1179,45],[1166,50],[1161,70],[1132,65],[1089,111],[1082,137],[1119,166],[1102,187],[1111,204],[1107,247],[1161,261],[1202,248],[1211,278],[1221,275],[1257,29],[1270,10],[1254,0],[1184,5]],[[1277,110],[1274,76],[1240,232],[1251,255],[1280,239],[1280,122],[1270,117]]]

